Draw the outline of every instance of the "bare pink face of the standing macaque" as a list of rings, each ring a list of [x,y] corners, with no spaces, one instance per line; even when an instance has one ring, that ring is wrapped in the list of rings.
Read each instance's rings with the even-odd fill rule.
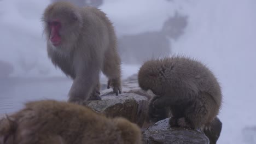
[[[50,27],[50,41],[54,46],[59,46],[61,44],[60,28],[61,22],[59,20],[49,21],[48,25]]]

